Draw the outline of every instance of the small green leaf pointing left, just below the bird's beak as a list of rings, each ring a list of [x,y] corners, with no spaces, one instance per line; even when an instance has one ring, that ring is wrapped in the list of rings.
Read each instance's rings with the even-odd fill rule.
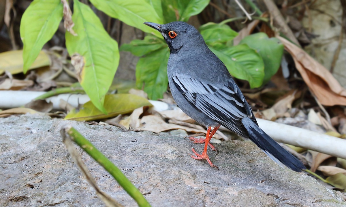
[[[155,50],[166,48],[167,44],[162,38],[152,35],[145,36],[144,40],[132,40],[129,44],[122,44],[121,51],[129,51],[135,56],[144,56]]]

